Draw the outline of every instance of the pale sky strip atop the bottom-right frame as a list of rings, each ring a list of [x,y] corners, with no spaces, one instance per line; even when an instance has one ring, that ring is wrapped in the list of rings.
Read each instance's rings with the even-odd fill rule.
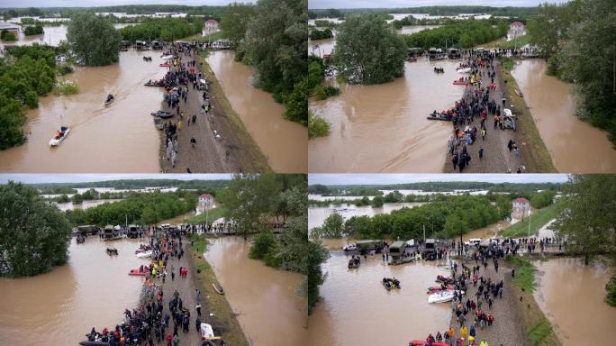
[[[308,184],[385,185],[430,181],[485,181],[489,183],[562,183],[566,174],[309,174]]]

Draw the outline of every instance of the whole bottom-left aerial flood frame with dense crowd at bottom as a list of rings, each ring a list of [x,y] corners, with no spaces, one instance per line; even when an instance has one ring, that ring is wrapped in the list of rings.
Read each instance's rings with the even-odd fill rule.
[[[0,343],[302,345],[306,188],[302,174],[0,175]]]

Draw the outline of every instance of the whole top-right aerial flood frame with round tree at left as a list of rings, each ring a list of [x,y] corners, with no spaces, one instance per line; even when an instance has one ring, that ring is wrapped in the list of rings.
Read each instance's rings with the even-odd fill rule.
[[[309,172],[615,173],[616,3],[541,3],[310,1]]]

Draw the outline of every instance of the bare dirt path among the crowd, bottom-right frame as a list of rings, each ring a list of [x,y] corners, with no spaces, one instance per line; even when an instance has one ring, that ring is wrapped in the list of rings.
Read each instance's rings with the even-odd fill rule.
[[[458,261],[459,263],[459,261]],[[518,305],[518,296],[515,294],[515,290],[512,287],[512,270],[504,266],[504,259],[499,259],[499,270],[494,271],[494,262],[492,259],[488,260],[488,267],[484,269],[479,263],[481,269],[479,269],[479,277],[492,278],[493,282],[500,282],[504,280],[503,285],[503,298],[494,299],[492,308],[488,308],[487,302],[482,298],[482,309],[494,316],[494,323],[492,326],[485,327],[484,329],[476,327],[476,343],[479,344],[482,340],[488,342],[488,345],[503,345],[503,346],[525,346],[528,345],[526,334],[523,329],[523,323],[520,315],[520,308]],[[465,261],[468,267],[476,266],[475,261]],[[460,266],[458,266],[458,274],[460,273]],[[479,285],[477,284],[477,287]],[[465,296],[476,299],[476,287],[473,287],[472,281],[470,285],[467,285],[468,290]],[[451,323],[456,331],[455,338],[460,336],[460,324],[457,322],[455,314],[452,314]],[[470,324],[473,323],[474,315],[472,312],[467,314],[467,328],[470,329]]]

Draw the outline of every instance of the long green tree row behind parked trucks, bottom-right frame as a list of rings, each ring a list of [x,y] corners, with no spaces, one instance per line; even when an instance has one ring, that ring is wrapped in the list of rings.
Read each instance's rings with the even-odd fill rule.
[[[452,238],[508,218],[511,200],[505,196],[495,205],[485,196],[449,196],[445,201],[413,208],[402,208],[391,214],[353,216],[344,225],[340,214],[331,214],[322,227],[312,230],[315,238],[340,238],[343,234],[356,239],[416,239],[423,228],[435,237]]]

